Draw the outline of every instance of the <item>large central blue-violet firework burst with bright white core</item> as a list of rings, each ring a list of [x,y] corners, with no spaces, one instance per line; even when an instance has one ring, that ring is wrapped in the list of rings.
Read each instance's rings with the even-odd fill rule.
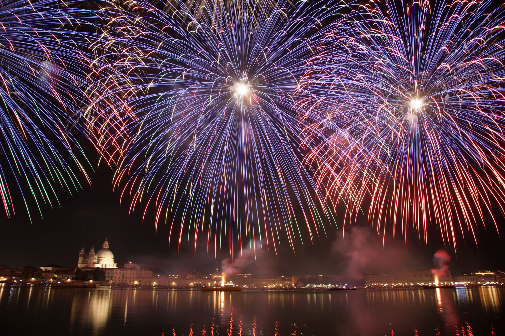
[[[96,131],[115,188],[178,244],[312,240],[333,219],[301,164],[294,94],[323,20],[346,6],[198,3],[207,14],[131,3],[96,45],[109,101],[120,97]]]

